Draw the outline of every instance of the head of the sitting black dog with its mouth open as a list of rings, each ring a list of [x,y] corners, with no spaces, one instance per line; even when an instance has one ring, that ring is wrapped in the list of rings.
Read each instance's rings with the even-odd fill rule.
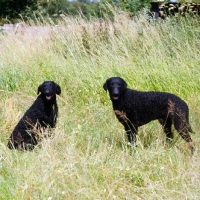
[[[50,101],[56,94],[59,95],[61,93],[61,88],[53,81],[44,81],[39,85],[37,94],[40,92],[46,97],[46,100]]]

